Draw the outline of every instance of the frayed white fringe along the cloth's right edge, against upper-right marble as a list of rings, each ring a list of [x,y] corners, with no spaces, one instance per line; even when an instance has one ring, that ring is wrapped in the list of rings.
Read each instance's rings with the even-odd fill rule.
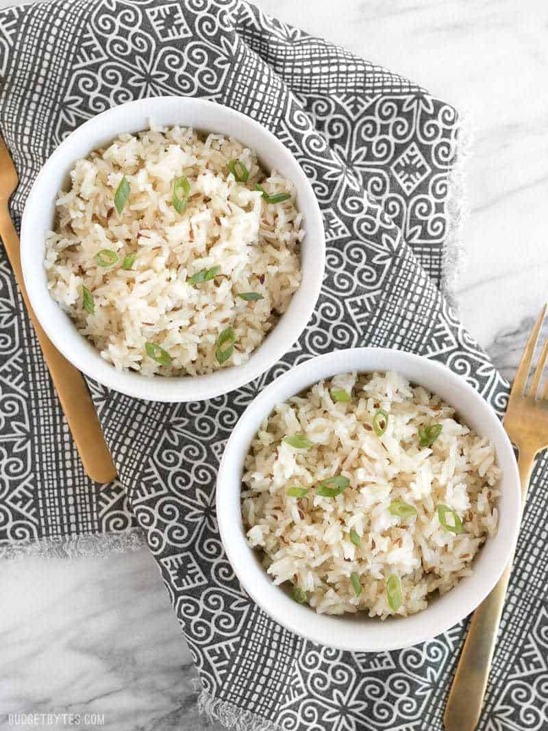
[[[468,254],[463,240],[463,228],[470,213],[466,192],[466,169],[472,143],[470,116],[460,115],[457,129],[457,159],[447,179],[447,232],[441,260],[441,291],[455,311],[458,311],[456,290]]]

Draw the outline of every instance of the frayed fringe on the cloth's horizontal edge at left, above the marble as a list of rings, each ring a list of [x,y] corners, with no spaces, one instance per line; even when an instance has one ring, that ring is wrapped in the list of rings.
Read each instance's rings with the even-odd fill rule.
[[[83,533],[77,536],[41,538],[36,541],[0,545],[0,560],[24,556],[95,558],[109,556],[110,553],[137,550],[144,545],[146,545],[145,533],[140,528],[132,528],[123,533]]]

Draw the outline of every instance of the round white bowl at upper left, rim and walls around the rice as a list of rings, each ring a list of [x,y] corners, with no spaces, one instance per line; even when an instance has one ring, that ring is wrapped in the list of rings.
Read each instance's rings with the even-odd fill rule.
[[[237,137],[255,150],[267,170],[275,168],[297,187],[297,207],[304,214],[301,247],[302,283],[289,308],[243,366],[221,368],[205,376],[141,376],[120,372],[107,363],[72,320],[50,297],[43,266],[45,232],[53,227],[57,192],[69,185],[76,160],[109,143],[121,132],[139,132],[156,124],[193,126],[203,132]],[[291,349],[313,313],[324,276],[325,240],[319,205],[305,173],[289,150],[251,118],[214,102],[184,96],[140,99],[113,107],[72,132],[50,156],[28,196],[21,224],[21,265],[28,296],[40,325],[63,355],[103,385],[154,401],[199,401],[227,393],[265,373]]]

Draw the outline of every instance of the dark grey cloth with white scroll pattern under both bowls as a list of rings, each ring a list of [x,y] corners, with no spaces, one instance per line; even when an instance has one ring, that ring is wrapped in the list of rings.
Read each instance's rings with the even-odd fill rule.
[[[508,385],[438,287],[457,218],[456,111],[243,0],[54,0],[1,12],[0,30],[0,128],[20,174],[16,222],[39,167],[72,129],[130,99],[181,94],[251,115],[282,140],[311,179],[327,233],[316,314],[255,382],[180,405],[90,383],[119,467],[120,481],[106,488],[80,468],[4,258],[4,553],[96,553],[144,536],[194,656],[202,708],[227,725],[441,729],[463,624],[430,643],[377,654],[293,635],[240,588],[218,535],[215,480],[230,431],[256,393],[332,349],[384,346],[439,360],[503,410]],[[534,560],[547,537],[545,464],[543,457],[533,478],[484,729],[545,722],[547,567]]]

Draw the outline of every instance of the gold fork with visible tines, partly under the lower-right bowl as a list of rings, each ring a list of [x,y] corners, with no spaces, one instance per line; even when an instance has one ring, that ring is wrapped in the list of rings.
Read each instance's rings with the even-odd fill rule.
[[[544,447],[548,447],[548,383],[539,398],[542,373],[548,357],[548,339],[544,343],[530,387],[526,390],[546,310],[547,306],[544,305],[525,346],[504,417],[504,428],[520,451],[518,466],[522,484],[522,508],[525,506],[536,455]],[[510,572],[511,562],[487,599],[473,613],[447,699],[444,713],[447,731],[473,731],[479,722]]]

